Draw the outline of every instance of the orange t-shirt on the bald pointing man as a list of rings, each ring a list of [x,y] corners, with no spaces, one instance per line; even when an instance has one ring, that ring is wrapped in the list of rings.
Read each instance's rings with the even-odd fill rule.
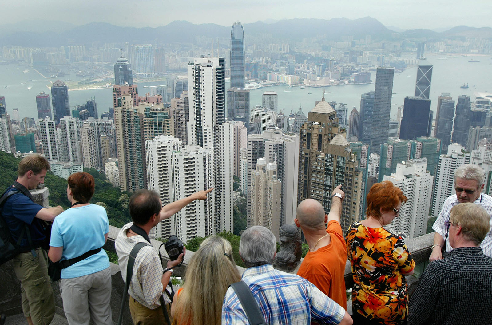
[[[343,238],[340,223],[335,220],[328,222],[326,232],[330,234],[330,243],[314,252],[308,252],[297,275],[307,279],[347,310],[347,295],[343,277],[347,261],[345,238]]]

